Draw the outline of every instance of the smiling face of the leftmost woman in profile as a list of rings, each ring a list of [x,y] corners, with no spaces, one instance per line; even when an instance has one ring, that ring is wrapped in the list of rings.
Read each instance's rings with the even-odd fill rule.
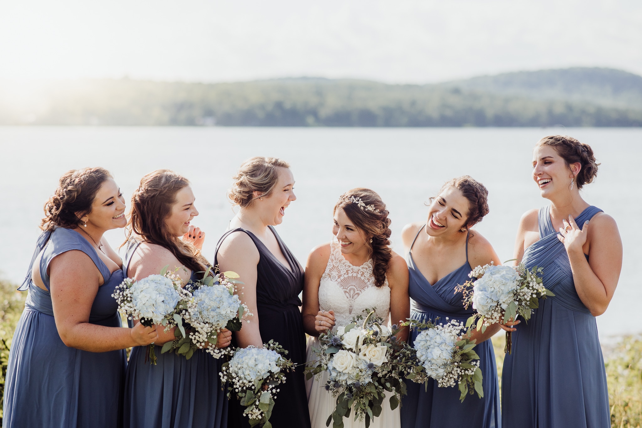
[[[91,204],[91,212],[81,219],[103,230],[125,227],[125,198],[113,178],[103,182]]]

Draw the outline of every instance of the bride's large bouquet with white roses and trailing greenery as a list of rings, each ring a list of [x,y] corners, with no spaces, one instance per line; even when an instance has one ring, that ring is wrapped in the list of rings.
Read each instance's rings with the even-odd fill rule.
[[[308,379],[327,371],[329,380],[324,388],[337,397],[326,426],[333,420],[333,428],[342,428],[343,416],[349,417],[354,405],[354,420],[365,418],[369,427],[370,420],[381,415],[384,391],[392,393],[393,410],[406,394],[403,375],[404,370],[412,370],[412,358],[394,336],[399,328],[394,325],[389,330],[382,318],[374,316],[374,309],[363,312],[369,312],[365,320],[360,315],[336,332],[320,334],[321,348],[313,347],[319,359],[306,367]],[[361,320],[363,323],[359,323]]]

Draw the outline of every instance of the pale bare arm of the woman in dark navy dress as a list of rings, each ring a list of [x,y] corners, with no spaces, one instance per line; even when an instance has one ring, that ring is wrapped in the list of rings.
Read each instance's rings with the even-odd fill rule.
[[[249,345],[263,347],[261,331],[259,330],[259,314],[256,309],[256,266],[260,255],[254,241],[244,232],[234,232],[228,235],[218,250],[218,268],[221,271],[234,271],[239,274],[245,284],[241,286],[239,298],[247,305],[254,316],[243,323],[243,328],[236,332],[239,347]]]

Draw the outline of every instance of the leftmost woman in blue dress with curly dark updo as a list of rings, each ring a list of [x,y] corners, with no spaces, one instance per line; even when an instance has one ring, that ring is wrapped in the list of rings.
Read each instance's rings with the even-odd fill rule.
[[[125,348],[158,340],[121,327],[112,297],[121,259],[103,234],[125,227],[125,200],[103,168],[68,171],[44,207],[44,230],[20,291],[4,427],[120,427]]]

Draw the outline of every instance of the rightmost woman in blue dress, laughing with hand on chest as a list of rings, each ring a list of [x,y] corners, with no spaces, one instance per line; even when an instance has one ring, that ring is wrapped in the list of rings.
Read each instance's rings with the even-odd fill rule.
[[[539,309],[512,335],[502,375],[503,423],[608,428],[595,317],[606,311],[618,285],[620,233],[610,216],[580,196],[598,172],[590,146],[564,135],[544,137],[535,146],[533,168],[550,205],[522,216],[515,258],[543,268],[544,286],[555,296],[540,299]]]

